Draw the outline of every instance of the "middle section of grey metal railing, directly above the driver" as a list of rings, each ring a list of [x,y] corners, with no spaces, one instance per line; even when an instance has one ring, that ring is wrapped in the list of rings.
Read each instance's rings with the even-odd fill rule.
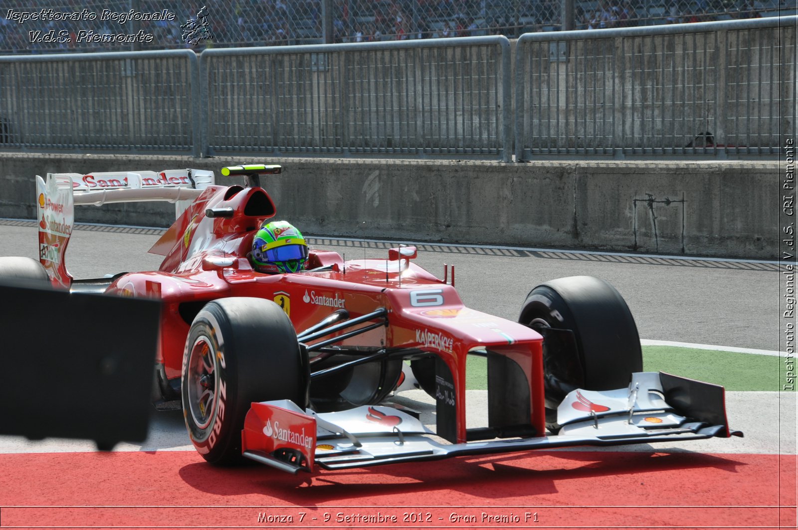
[[[207,49],[203,152],[512,157],[510,43]]]

